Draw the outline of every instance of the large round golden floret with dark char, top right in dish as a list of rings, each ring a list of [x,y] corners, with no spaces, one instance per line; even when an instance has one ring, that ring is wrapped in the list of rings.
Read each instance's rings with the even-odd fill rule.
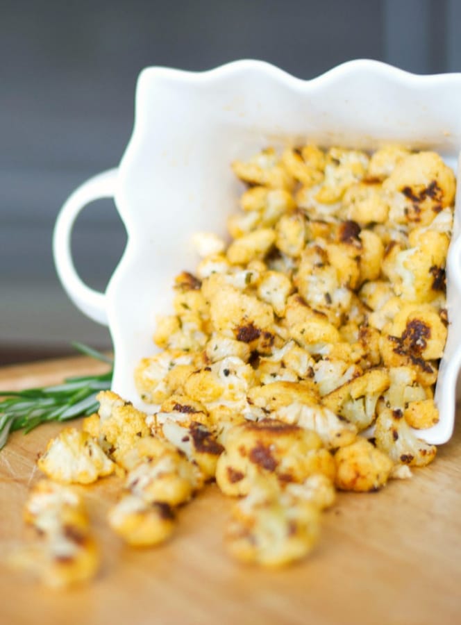
[[[455,176],[435,152],[403,158],[383,183],[394,224],[427,226],[443,208],[453,206]]]

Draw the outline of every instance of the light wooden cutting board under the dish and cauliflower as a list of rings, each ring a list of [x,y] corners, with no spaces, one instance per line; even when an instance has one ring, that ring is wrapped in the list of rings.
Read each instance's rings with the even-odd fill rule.
[[[51,384],[102,371],[87,358],[0,369],[1,388]],[[40,477],[35,458],[62,427],[15,433],[0,451],[0,555],[28,537],[22,506]],[[440,625],[461,623],[461,428],[430,467],[374,494],[342,494],[324,515],[310,558],[263,570],[228,557],[231,502],[212,485],[181,510],[178,531],[156,549],[124,547],[105,513],[119,482],[85,494],[101,541],[94,583],[67,592],[0,566],[0,623],[224,625]]]

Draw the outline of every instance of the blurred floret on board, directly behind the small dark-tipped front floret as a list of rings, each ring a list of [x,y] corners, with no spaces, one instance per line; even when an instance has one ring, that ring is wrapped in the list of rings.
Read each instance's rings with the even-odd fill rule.
[[[146,502],[179,506],[203,486],[203,476],[171,443],[158,456],[146,456],[126,476],[125,488]]]

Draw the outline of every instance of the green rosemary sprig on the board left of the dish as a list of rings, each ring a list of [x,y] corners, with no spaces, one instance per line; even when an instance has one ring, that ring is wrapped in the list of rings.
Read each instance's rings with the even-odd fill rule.
[[[91,415],[98,408],[96,396],[100,390],[110,388],[112,359],[81,343],[72,343],[77,351],[102,360],[110,365],[105,374],[65,378],[62,384],[21,391],[1,391],[0,398],[0,449],[11,432],[33,428],[49,421],[67,421]]]

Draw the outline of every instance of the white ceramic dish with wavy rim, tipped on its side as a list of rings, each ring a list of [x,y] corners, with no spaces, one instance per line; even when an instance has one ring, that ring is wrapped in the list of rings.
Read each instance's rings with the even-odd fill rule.
[[[435,149],[455,167],[461,149],[461,74],[416,76],[355,60],[311,81],[267,63],[242,60],[209,72],[149,67],[140,74],[133,136],[117,169],[84,183],[62,207],[53,239],[58,274],[69,297],[108,324],[115,349],[113,390],[142,405],[133,370],[156,351],[158,313],[170,312],[171,285],[198,258],[196,231],[225,235],[240,183],[230,170],[267,145],[376,149],[385,142]],[[70,252],[74,219],[85,204],[114,197],[128,233],[124,256],[105,293],[76,274]],[[458,194],[459,197],[459,194]],[[461,204],[458,201],[458,208]],[[439,372],[440,422],[419,435],[435,444],[453,431],[461,365],[460,219],[448,262],[449,339]],[[103,253],[103,252],[101,252]]]

